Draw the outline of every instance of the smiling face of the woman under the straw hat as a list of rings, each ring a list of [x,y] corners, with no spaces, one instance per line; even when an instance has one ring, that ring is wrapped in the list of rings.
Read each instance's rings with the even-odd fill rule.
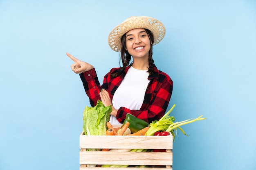
[[[133,59],[137,57],[148,59],[151,44],[144,28],[136,28],[126,33],[126,50]]]

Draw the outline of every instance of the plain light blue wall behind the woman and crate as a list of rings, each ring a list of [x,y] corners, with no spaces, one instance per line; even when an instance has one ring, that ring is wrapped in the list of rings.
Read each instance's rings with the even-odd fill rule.
[[[174,81],[173,116],[207,118],[178,132],[173,169],[256,169],[254,0],[1,0],[1,170],[79,169],[89,101],[65,53],[102,82],[119,66],[108,33],[143,15],[166,26],[153,58]]]

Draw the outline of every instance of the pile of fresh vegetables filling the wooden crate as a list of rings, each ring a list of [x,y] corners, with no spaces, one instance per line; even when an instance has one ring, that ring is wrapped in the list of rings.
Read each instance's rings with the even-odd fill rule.
[[[181,122],[175,122],[173,116],[169,116],[175,105],[164,114],[159,120],[155,120],[148,124],[144,120],[141,120],[132,114],[128,113],[126,119],[121,127],[114,127],[110,122],[110,113],[112,111],[111,106],[105,107],[103,103],[98,100],[95,107],[85,107],[83,113],[83,132],[85,135],[144,135],[144,136],[166,136],[172,135],[173,141],[175,134],[177,135],[177,129],[180,129],[184,135],[186,133],[180,127],[185,124],[189,124],[198,120],[205,120],[202,116],[195,119],[188,119]],[[176,132],[175,132],[176,131]],[[166,150],[148,150],[148,149],[87,149],[87,151],[107,151],[107,152],[166,152]],[[97,165],[87,165],[95,167]],[[99,165],[98,165],[99,166]],[[124,168],[129,165],[101,165],[101,167],[119,167]],[[145,166],[140,166],[145,167]]]

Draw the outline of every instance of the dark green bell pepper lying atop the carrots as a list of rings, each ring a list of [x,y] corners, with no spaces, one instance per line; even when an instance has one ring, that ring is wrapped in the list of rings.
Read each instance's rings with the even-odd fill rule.
[[[148,122],[142,119],[139,119],[130,113],[126,114],[126,119],[124,120],[124,124],[126,124],[126,122],[130,123],[129,129],[131,130],[132,133],[135,133],[148,126]]]

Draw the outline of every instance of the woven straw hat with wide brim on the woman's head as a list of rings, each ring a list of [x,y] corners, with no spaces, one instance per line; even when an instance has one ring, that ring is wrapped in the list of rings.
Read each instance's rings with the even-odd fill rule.
[[[146,28],[153,33],[154,44],[158,44],[165,35],[165,27],[162,22],[152,17],[129,17],[117,25],[108,35],[108,44],[112,50],[121,51],[121,37],[135,28]]]

